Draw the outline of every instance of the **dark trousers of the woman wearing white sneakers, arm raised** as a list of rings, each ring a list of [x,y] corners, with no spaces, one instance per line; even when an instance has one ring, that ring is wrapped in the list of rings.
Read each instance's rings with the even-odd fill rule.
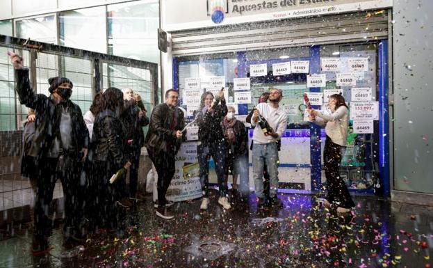
[[[224,180],[224,165],[226,157],[225,150],[226,146],[224,141],[208,143],[206,145],[197,145],[197,156],[200,166],[200,182],[202,184],[202,191],[205,197],[207,197],[209,194],[209,160],[211,157],[215,162],[215,171],[218,177],[220,196],[227,195],[227,185],[225,184]]]

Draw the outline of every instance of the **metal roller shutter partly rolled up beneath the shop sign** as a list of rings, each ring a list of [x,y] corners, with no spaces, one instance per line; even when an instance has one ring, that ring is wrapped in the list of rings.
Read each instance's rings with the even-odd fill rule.
[[[172,32],[173,56],[388,38],[388,11],[345,13]]]

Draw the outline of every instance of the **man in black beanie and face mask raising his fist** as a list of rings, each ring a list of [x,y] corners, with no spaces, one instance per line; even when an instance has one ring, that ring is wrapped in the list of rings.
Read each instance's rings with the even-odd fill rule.
[[[35,133],[28,148],[28,155],[36,157],[38,166],[37,194],[34,211],[33,252],[44,253],[49,249],[49,206],[54,186],[59,178],[65,195],[65,237],[82,239],[83,187],[81,178],[83,161],[88,153],[89,132],[81,109],[70,100],[72,81],[66,77],[48,79],[49,93],[35,94],[30,86],[28,69],[23,58],[10,53],[15,68],[15,90],[21,104],[35,110]]]

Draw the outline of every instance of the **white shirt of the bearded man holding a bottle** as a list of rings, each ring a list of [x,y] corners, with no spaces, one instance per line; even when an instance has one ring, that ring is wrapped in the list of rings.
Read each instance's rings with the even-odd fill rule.
[[[273,108],[268,103],[259,103],[256,109],[259,110],[261,116],[268,121],[268,124],[274,129],[274,132],[278,134],[278,138],[273,138],[270,135],[265,136],[261,127],[257,123],[254,123],[255,117],[253,116],[251,118],[251,125],[254,127],[252,135],[253,142],[267,144],[281,139],[287,127],[287,113],[281,107]]]

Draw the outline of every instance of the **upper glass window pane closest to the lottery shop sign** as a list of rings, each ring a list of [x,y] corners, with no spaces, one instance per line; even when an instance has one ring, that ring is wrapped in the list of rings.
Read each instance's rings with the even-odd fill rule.
[[[107,6],[108,54],[159,63],[158,1]]]

